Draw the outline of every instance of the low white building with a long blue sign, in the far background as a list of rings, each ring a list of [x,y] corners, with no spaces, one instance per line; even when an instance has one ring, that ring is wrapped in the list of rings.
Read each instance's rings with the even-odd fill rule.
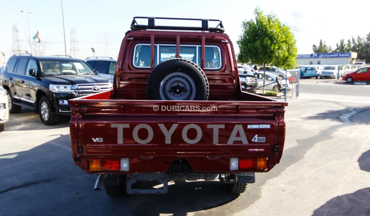
[[[354,64],[357,52],[332,52],[297,55],[299,65],[343,65]]]

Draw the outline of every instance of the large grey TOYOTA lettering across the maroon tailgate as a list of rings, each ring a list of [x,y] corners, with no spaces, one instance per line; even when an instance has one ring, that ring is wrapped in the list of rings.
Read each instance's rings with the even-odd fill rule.
[[[111,124],[111,128],[117,128],[118,144],[132,139],[138,144],[195,144],[206,140],[213,144],[249,144],[247,125],[242,124]]]

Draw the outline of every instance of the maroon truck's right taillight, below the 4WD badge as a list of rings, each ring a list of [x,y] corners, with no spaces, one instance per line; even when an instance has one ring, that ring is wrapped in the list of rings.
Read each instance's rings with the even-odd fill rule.
[[[266,170],[267,158],[230,158],[230,170]]]

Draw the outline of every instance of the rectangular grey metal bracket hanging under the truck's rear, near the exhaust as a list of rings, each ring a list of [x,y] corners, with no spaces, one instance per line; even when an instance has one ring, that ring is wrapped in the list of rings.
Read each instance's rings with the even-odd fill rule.
[[[142,181],[142,182],[158,181],[159,184],[163,184],[163,187],[150,188],[150,189],[132,188],[132,184],[134,184],[137,181]],[[157,172],[127,174],[126,192],[128,194],[167,193],[168,192],[168,174],[157,173]]]

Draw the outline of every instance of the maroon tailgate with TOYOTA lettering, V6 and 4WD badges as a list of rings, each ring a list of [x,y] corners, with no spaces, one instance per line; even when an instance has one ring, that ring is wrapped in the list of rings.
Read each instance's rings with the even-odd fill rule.
[[[132,172],[164,172],[186,159],[196,172],[230,171],[230,158],[279,162],[285,102],[71,100],[71,147],[90,158],[129,158]],[[109,173],[109,172],[104,172]]]

